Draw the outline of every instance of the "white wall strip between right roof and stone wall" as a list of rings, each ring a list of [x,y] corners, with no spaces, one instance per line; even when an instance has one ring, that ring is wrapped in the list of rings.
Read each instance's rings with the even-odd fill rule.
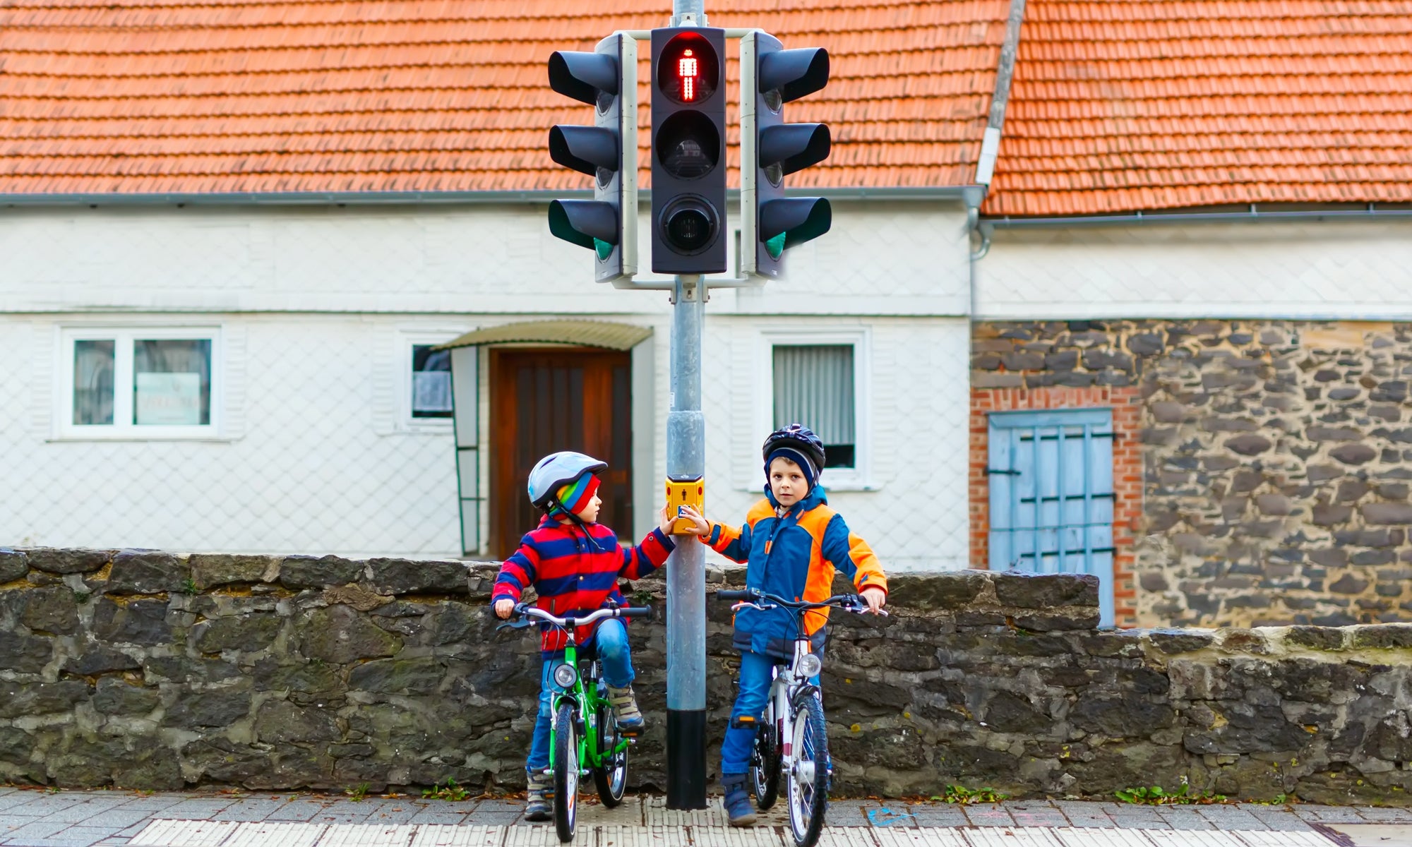
[[[986,319],[1412,319],[1412,220],[998,229]]]

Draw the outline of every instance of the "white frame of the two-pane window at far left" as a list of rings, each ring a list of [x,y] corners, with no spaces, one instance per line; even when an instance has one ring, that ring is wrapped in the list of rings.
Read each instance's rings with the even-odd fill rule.
[[[189,426],[140,426],[133,424],[134,353],[137,340],[210,342],[210,424]],[[112,340],[113,422],[73,422],[75,342]],[[226,367],[222,328],[212,325],[85,325],[61,326],[54,381],[54,438],[59,440],[212,440],[222,438],[226,407]]]

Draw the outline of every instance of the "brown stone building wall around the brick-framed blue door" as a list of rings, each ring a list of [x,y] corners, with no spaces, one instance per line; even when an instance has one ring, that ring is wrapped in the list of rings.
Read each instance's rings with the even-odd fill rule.
[[[979,323],[971,367],[1138,390],[1137,624],[1412,620],[1412,325]]]

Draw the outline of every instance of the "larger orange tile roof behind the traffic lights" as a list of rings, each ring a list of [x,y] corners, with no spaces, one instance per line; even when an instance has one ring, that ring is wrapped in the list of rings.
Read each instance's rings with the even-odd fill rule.
[[[829,48],[832,83],[788,110],[830,124],[833,155],[791,178],[823,186],[971,182],[1007,8],[706,7],[712,25]],[[549,90],[548,56],[669,13],[669,0],[4,0],[0,193],[589,188],[546,152],[551,124],[592,120]],[[645,126],[645,82],[642,97]]]

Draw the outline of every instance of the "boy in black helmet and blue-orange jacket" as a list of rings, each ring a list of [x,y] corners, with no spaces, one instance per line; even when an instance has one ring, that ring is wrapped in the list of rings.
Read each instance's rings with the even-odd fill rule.
[[[829,508],[819,484],[825,464],[819,436],[792,424],[770,433],[761,455],[765,498],[750,510],[744,527],[712,524],[683,507],[683,517],[693,521],[702,542],[726,558],[746,562],[747,587],[803,601],[825,600],[833,593],[834,569],[840,569],[853,577],[868,608],[881,610],[887,601],[887,576],[867,542],[853,535],[843,517]],[[801,618],[815,652],[823,648],[827,620],[827,608],[808,611]],[[741,608],[736,614],[733,644],[740,651],[740,693],[720,750],[722,786],[731,826],[755,822],[755,809],[746,792],[755,730],[747,728],[754,724],[737,719],[760,720],[774,663],[792,655],[794,638],[794,618],[784,608]]]

